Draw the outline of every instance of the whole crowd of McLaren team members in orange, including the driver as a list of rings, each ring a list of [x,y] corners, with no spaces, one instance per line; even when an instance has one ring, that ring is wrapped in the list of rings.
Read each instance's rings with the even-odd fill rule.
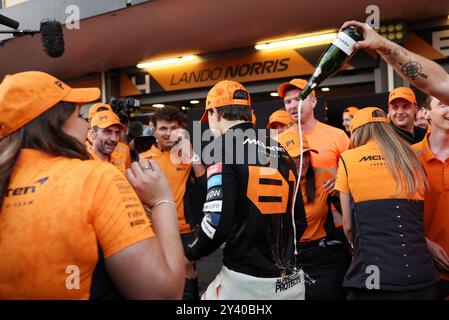
[[[80,114],[97,88],[6,76],[0,299],[197,300],[196,261],[223,245],[202,299],[449,298],[449,75],[349,25],[363,32],[358,48],[428,94],[422,105],[395,88],[387,113],[348,106],[345,132],[315,119],[314,92],[298,109],[307,81],[295,78],[256,130],[248,90],[220,81],[201,118],[210,159],[175,107],[154,114],[156,142],[131,163],[110,105]],[[404,73],[407,61],[422,74]]]

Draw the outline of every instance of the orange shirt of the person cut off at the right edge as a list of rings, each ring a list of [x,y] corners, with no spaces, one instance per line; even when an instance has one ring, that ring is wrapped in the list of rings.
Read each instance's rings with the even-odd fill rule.
[[[424,231],[426,237],[438,243],[449,254],[449,159],[438,160],[429,147],[429,135],[414,144],[429,180],[429,190],[424,198]],[[449,280],[449,273],[441,270],[440,276]]]

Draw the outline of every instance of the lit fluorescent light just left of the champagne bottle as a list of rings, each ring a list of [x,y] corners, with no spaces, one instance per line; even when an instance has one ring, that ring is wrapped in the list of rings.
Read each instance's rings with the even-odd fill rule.
[[[309,35],[309,36],[302,36],[302,37],[288,39],[288,40],[260,43],[260,44],[256,44],[255,48],[257,50],[278,49],[278,48],[285,48],[285,47],[305,48],[305,47],[318,46],[318,45],[322,45],[322,44],[329,44],[336,37],[337,37],[337,32],[329,32],[329,33],[315,34],[315,35]]]

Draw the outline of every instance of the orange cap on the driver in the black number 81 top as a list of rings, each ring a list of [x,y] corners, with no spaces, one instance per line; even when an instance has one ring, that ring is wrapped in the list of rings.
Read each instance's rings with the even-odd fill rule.
[[[239,94],[240,92],[240,94]],[[241,97],[246,97],[241,99]],[[213,108],[238,105],[251,108],[251,99],[246,88],[235,81],[223,80],[210,89],[206,98],[206,109],[201,122],[207,121],[207,111]]]

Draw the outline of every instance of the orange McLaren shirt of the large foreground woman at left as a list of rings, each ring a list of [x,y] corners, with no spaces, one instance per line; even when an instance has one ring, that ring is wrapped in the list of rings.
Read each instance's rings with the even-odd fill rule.
[[[0,299],[89,299],[104,258],[154,236],[110,164],[23,149],[0,213]],[[74,269],[79,289],[68,289]]]

